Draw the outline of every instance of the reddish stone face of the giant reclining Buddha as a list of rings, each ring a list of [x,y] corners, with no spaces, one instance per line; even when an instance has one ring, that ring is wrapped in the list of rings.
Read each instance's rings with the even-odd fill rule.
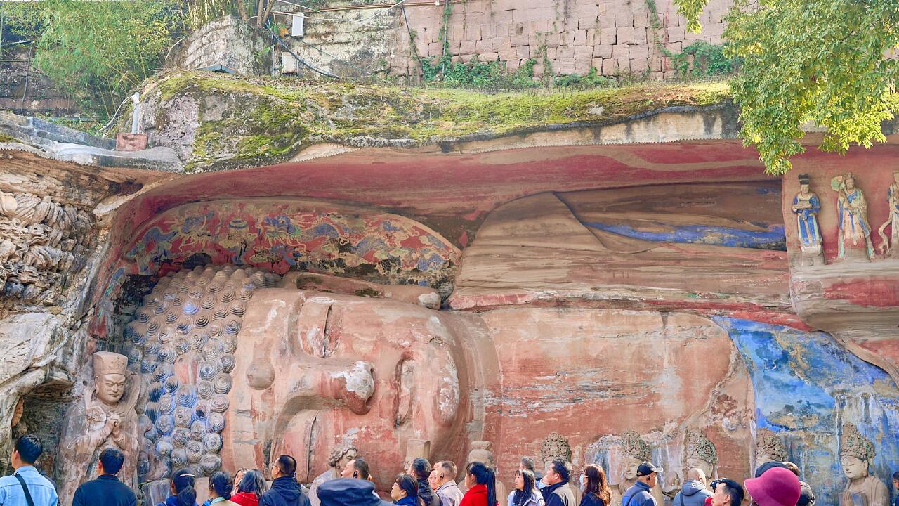
[[[289,454],[306,482],[348,441],[377,463],[386,489],[408,439],[461,458],[468,409],[459,329],[451,316],[407,303],[259,291],[238,336],[226,468]]]

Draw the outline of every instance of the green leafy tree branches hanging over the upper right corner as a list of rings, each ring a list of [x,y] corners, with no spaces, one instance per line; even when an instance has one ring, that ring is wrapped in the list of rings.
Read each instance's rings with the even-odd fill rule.
[[[675,0],[698,32],[708,0]],[[899,106],[899,46],[895,0],[736,0],[725,39],[743,59],[734,77],[743,142],[755,146],[766,170],[783,174],[803,152],[803,125],[826,129],[821,149],[883,142],[880,124]]]

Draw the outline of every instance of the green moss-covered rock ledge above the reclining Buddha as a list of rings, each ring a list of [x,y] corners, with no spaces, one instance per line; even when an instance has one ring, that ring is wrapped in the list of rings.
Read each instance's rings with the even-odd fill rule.
[[[185,96],[200,104],[187,167],[206,171],[277,163],[317,142],[415,147],[601,125],[671,106],[719,104],[731,95],[726,81],[488,94],[206,72],[165,75],[145,92],[161,113]]]

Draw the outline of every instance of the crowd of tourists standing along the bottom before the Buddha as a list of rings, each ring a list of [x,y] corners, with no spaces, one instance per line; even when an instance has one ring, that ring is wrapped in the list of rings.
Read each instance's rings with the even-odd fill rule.
[[[11,464],[15,472],[0,478],[0,506],[57,506],[55,484],[35,463],[42,453],[40,440],[25,435],[15,441]],[[119,474],[125,462],[117,448],[102,450],[96,466],[97,478],[76,490],[73,506],[137,506],[135,492],[122,483]],[[621,497],[620,506],[663,506],[653,494],[662,469],[644,462],[636,469],[636,482]],[[571,483],[572,465],[562,460],[547,464],[543,473],[530,457],[522,457],[514,475],[514,489],[498,496],[494,470],[481,462],[468,463],[464,483],[456,483],[458,467],[443,460],[431,465],[414,459],[398,474],[390,490],[392,502],[375,492],[369,464],[357,457],[347,463],[341,477],[316,488],[321,506],[611,506],[612,492],[599,465],[585,465],[578,482]],[[224,471],[209,476],[209,497],[203,506],[309,506],[308,492],[297,482],[297,461],[282,455],[271,466],[271,484],[262,472],[240,469],[232,477]],[[899,473],[893,475],[899,489]],[[156,506],[199,506],[198,477],[186,469],[176,470],[170,480],[170,495]],[[581,496],[579,503],[575,501]],[[699,468],[688,470],[672,506],[740,506],[746,492],[755,506],[814,506],[814,493],[799,479],[799,468],[791,462],[768,462],[756,469],[755,477],[740,483],[727,478],[707,483]],[[899,506],[899,498],[895,501]],[[617,503],[616,503],[617,506]]]

